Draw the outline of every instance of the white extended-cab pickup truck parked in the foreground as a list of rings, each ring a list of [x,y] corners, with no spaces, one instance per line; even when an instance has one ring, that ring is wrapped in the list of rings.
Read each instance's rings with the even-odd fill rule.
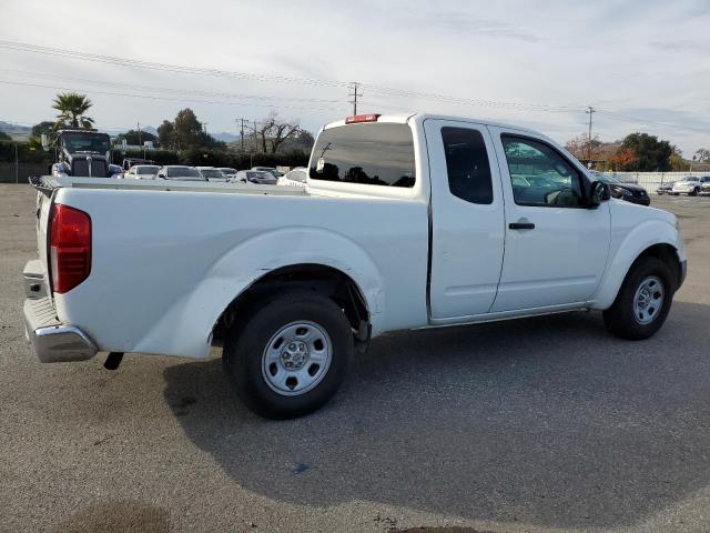
[[[326,402],[387,331],[600,310],[645,339],[686,274],[676,217],[610,199],[534,131],[429,114],[325,125],[305,188],[31,180],[24,270],[43,362],[223,363],[254,412]]]

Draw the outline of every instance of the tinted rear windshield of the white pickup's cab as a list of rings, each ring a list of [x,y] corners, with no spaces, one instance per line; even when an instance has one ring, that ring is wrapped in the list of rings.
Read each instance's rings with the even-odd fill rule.
[[[324,130],[313,149],[312,180],[414,187],[414,142],[406,124],[347,124]]]

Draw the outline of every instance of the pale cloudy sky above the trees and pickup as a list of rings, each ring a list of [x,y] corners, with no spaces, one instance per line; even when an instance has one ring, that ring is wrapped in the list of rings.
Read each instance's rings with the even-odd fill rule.
[[[190,107],[210,133],[271,111],[315,133],[352,114],[352,81],[358,112],[493,119],[562,143],[591,105],[602,141],[645,131],[689,158],[710,149],[710,0],[2,0],[8,122],[51,120],[54,94],[78,90],[104,130]]]

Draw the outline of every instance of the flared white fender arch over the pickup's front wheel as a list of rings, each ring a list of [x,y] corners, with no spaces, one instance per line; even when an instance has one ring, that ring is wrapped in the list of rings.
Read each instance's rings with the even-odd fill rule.
[[[618,243],[617,245],[613,244],[615,241]],[[610,308],[633,261],[655,244],[670,244],[676,249],[678,261],[686,260],[683,241],[678,230],[665,220],[643,221],[625,235],[623,230],[618,230],[616,235],[612,233],[609,262],[590,306],[600,310]]]

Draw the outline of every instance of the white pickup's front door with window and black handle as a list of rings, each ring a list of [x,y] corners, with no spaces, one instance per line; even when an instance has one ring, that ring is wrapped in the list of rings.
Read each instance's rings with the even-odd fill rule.
[[[493,312],[584,304],[604,274],[609,202],[586,205],[589,181],[552,143],[490,128],[506,195],[505,259]]]

